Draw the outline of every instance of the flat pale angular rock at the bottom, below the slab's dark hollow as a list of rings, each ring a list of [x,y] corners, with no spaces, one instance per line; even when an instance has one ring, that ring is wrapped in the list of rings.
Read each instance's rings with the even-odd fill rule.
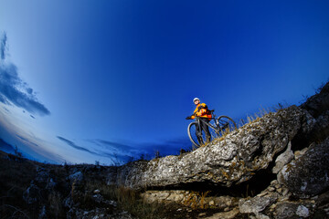
[[[239,200],[240,213],[260,213],[271,203],[274,203],[275,199],[271,197],[253,197],[249,200]]]

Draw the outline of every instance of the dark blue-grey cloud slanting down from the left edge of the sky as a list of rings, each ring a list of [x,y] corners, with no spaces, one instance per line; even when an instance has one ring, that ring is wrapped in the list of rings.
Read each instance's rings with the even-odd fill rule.
[[[15,105],[41,116],[50,111],[37,100],[36,93],[18,76],[16,65],[6,60],[7,36],[0,33],[0,102]]]

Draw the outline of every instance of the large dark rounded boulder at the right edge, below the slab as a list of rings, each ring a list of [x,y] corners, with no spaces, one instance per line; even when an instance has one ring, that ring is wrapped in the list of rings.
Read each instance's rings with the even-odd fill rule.
[[[329,186],[329,137],[313,144],[297,160],[285,165],[278,180],[294,195],[305,198],[324,192]]]

